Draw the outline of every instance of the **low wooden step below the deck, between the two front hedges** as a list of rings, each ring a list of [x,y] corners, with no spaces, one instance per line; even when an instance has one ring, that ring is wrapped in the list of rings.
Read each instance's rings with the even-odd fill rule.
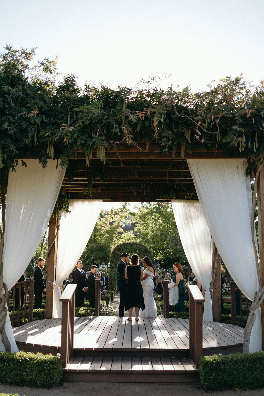
[[[64,381],[199,383],[199,370],[189,358],[85,358],[70,360]]]

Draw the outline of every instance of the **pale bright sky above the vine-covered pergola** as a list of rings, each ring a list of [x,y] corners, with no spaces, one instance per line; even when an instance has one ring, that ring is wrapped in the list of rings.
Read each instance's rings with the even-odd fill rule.
[[[62,75],[110,88],[171,74],[162,86],[205,89],[243,73],[264,78],[263,0],[0,0],[0,52],[59,55]]]

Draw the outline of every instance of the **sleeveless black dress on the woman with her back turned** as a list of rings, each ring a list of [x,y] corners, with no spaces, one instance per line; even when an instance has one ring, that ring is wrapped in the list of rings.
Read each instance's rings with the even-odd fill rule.
[[[127,266],[127,289],[125,294],[125,310],[138,307],[145,309],[143,290],[140,281],[141,267],[139,265]]]

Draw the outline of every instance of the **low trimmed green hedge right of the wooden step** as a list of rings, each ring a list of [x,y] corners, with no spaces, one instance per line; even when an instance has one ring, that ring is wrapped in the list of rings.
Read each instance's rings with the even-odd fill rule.
[[[205,392],[264,386],[264,352],[202,356],[199,367]]]

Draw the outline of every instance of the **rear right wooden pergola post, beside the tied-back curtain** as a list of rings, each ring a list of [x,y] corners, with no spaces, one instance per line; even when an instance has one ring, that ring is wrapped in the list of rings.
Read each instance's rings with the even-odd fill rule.
[[[213,321],[221,322],[221,257],[215,244],[213,246],[213,273],[215,272],[215,280],[212,286]]]

